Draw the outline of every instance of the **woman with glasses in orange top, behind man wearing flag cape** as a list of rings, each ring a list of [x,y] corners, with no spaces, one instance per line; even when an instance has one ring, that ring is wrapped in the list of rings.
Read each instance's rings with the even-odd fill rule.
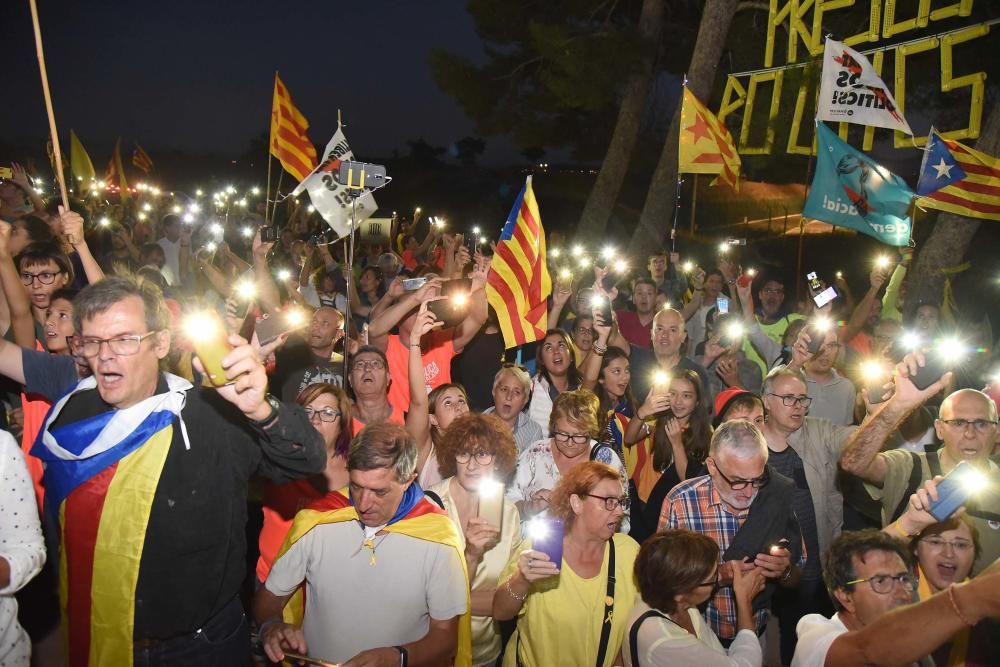
[[[264,486],[264,527],[260,531],[257,579],[265,581],[271,563],[288,534],[295,513],[330,491],[347,486],[347,449],[351,444],[351,401],[340,387],[325,382],[302,390],[295,402],[323,437],[326,470],[322,475],[288,484],[267,482]]]

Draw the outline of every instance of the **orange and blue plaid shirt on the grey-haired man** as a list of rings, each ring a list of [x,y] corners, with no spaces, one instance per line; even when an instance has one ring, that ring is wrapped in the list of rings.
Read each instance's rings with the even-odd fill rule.
[[[722,554],[750,514],[750,509],[734,514],[722,502],[722,498],[712,484],[709,475],[692,477],[673,488],[663,501],[660,509],[658,530],[664,528],[687,528],[708,535],[719,545],[719,563]],[[802,545],[802,559],[805,564],[805,544]],[[759,609],[754,612],[754,624],[760,635],[767,626],[769,611]],[[726,642],[736,637],[736,596],[733,587],[722,586],[705,607],[705,620],[719,637]]]

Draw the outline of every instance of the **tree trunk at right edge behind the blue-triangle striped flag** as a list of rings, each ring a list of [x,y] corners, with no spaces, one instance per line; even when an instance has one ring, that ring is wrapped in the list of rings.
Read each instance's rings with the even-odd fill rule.
[[[976,150],[988,155],[1000,151],[1000,107],[994,105],[983,124]],[[941,269],[961,264],[980,220],[954,213],[939,213],[931,235],[917,254],[906,294],[906,314],[919,303],[941,303],[945,276]]]

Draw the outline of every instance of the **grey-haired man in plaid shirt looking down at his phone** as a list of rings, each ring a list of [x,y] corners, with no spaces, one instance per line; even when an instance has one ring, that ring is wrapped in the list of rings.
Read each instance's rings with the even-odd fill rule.
[[[769,471],[767,443],[756,426],[743,420],[719,426],[705,464],[707,475],[682,482],[667,495],[659,530],[687,528],[719,545],[719,589],[708,602],[705,619],[728,646],[737,630],[733,568],[759,569],[768,580],[754,599],[754,621],[761,636],[771,598],[779,587],[798,585],[807,552],[788,502],[793,484]]]

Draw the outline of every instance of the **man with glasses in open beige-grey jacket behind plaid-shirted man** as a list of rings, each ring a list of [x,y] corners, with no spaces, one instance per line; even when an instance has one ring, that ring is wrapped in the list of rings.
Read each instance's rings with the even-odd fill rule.
[[[836,335],[830,332],[827,339],[835,342]],[[803,345],[798,346],[797,359],[801,359]],[[763,398],[767,420],[762,431],[770,453],[768,465],[795,483],[792,506],[806,550],[816,556],[806,562],[799,588],[775,597],[782,658],[787,664],[795,650],[795,624],[805,614],[829,609],[819,556],[843,528],[844,500],[837,485],[837,462],[854,427],[813,417],[815,403],[807,394],[805,379],[788,368],[779,367],[768,374]]]

